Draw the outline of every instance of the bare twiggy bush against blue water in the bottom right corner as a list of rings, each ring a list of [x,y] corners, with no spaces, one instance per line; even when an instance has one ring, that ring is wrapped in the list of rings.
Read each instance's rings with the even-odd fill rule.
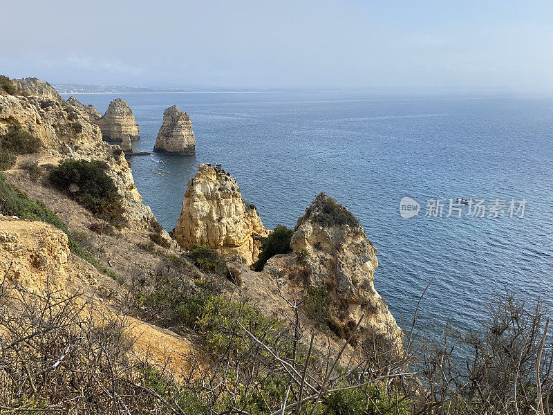
[[[446,324],[437,342],[423,331],[412,353],[426,389],[416,406],[432,408],[424,413],[435,414],[551,414],[551,337],[538,360],[544,323],[541,302],[524,302],[507,293],[489,303],[476,331],[462,333]]]

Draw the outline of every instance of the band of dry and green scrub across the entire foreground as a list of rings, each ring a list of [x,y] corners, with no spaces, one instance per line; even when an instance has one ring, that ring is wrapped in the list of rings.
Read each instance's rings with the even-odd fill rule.
[[[129,321],[113,313],[86,318],[79,294],[60,296],[48,286],[30,293],[3,282],[0,302],[17,304],[0,312],[0,363],[10,368],[0,371],[1,405],[28,413],[550,414],[551,347],[543,347],[539,303],[497,297],[476,331],[444,326],[436,342],[424,331],[408,333],[405,358],[386,365],[357,347],[362,362],[349,366],[313,347],[301,322],[283,324],[244,297],[229,299],[214,273],[196,274],[189,284],[179,276],[194,270],[171,262],[181,267],[173,274],[160,267],[147,279],[137,276],[129,287],[134,309],[203,339],[209,374],[178,374],[135,355]],[[33,331],[35,324],[44,330]],[[346,345],[355,333],[357,326]],[[83,365],[88,370],[77,370]]]

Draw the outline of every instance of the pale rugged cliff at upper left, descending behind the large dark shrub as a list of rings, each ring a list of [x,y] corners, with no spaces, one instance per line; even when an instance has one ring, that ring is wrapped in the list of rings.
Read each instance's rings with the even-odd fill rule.
[[[13,124],[20,124],[40,138],[41,158],[48,163],[57,163],[63,158],[108,163],[108,174],[122,196],[127,219],[145,225],[153,218],[151,209],[142,204],[131,167],[120,147],[104,142],[100,129],[88,122],[81,111],[50,98],[0,93],[0,136]]]

